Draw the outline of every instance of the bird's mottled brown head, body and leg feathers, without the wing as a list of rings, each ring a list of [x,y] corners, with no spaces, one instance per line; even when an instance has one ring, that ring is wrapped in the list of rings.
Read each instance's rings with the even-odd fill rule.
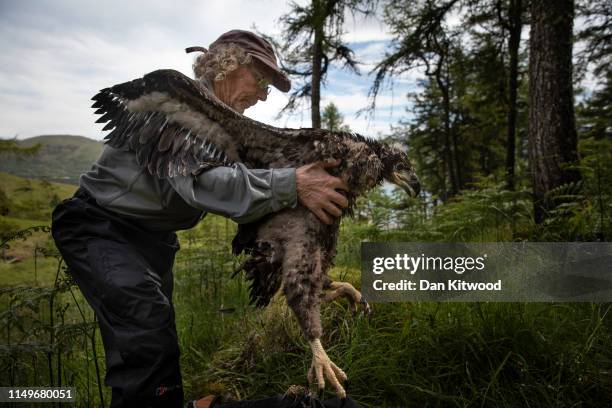
[[[412,189],[412,194],[418,193],[416,177],[401,151],[351,133],[309,131],[317,139],[317,147],[303,146],[302,155],[281,163],[283,167],[297,167],[341,158],[341,164],[330,172],[344,179],[350,188],[345,214],[352,213],[358,195],[385,179]],[[398,174],[405,174],[404,180]],[[336,255],[339,225],[339,219],[325,225],[308,209],[298,206],[239,225],[232,242],[235,254],[249,254],[241,270],[251,281],[251,302],[266,306],[284,284],[287,302],[309,340],[321,336],[319,297],[331,282],[327,272]]]

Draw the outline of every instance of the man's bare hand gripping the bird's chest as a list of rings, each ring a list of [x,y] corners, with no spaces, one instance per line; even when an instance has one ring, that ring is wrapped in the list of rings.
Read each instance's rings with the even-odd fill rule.
[[[346,197],[335,190],[348,191],[346,183],[325,171],[339,164],[340,160],[316,162],[299,167],[295,171],[298,201],[328,225],[333,222],[332,216],[342,215],[342,210],[337,206],[348,206]]]

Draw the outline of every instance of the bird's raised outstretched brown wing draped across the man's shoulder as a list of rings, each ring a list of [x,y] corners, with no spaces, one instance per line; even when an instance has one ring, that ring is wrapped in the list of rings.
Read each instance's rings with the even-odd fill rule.
[[[269,165],[279,146],[290,147],[290,136],[301,133],[246,118],[174,70],[102,89],[92,100],[102,115],[96,122],[112,130],[107,143],[128,145],[138,163],[160,178],[197,175],[247,159]]]

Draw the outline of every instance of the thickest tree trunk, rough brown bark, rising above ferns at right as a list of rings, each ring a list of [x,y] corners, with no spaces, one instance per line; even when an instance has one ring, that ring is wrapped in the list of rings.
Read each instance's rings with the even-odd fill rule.
[[[578,162],[572,89],[572,0],[532,0],[529,57],[529,158],[535,221],[553,203],[546,194],[577,181]]]

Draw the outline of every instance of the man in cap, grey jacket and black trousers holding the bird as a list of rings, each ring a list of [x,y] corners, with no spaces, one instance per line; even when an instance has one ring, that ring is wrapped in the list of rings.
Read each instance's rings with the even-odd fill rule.
[[[194,63],[196,79],[240,113],[266,100],[268,84],[290,89],[271,45],[251,32],[229,31],[208,50],[187,49],[194,50],[204,51]],[[160,179],[127,147],[105,147],[75,196],[54,210],[52,233],[98,317],[112,407],[183,404],[172,306],[175,231],[193,227],[206,212],[242,223],[298,202],[331,223],[348,204],[336,191],[346,185],[325,171],[334,165],[237,164]]]

